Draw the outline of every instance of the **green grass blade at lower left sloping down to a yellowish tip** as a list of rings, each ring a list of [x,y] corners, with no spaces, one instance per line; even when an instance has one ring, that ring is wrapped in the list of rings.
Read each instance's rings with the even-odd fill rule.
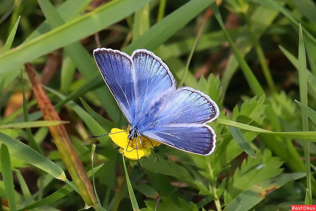
[[[0,132],[0,142],[6,144],[9,148],[9,153],[16,158],[32,164],[51,174],[56,179],[63,181],[66,179],[63,169],[19,140]]]

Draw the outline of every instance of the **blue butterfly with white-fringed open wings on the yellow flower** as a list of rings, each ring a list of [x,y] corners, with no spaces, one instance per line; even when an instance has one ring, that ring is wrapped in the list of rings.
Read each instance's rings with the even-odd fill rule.
[[[168,66],[138,49],[93,51],[101,75],[129,122],[128,138],[138,136],[198,155],[210,155],[216,134],[207,124],[219,115],[216,103],[191,87],[176,88]],[[137,148],[137,147],[136,147]]]

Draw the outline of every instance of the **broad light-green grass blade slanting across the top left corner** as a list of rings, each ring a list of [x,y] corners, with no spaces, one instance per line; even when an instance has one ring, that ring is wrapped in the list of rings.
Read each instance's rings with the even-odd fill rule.
[[[74,43],[130,15],[150,0],[113,0],[0,56],[0,73]],[[45,48],[43,48],[45,46]]]

